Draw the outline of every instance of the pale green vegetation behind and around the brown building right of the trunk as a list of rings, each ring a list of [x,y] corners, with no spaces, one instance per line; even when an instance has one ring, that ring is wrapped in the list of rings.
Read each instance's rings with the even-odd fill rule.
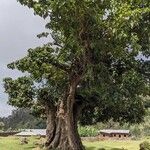
[[[146,116],[144,117],[144,122],[140,124],[130,124],[130,123],[119,123],[119,122],[114,122],[112,119],[107,121],[107,122],[99,122],[94,125],[90,126],[79,126],[79,133],[83,133],[82,135],[87,135],[88,133],[86,129],[90,129],[93,131],[96,131],[95,135],[98,134],[98,132],[102,129],[125,129],[125,130],[130,130],[132,140],[139,140],[144,137],[150,136],[150,110],[147,111]],[[82,130],[81,130],[82,129]],[[81,132],[82,131],[82,132]],[[91,134],[91,136],[93,136]]]

